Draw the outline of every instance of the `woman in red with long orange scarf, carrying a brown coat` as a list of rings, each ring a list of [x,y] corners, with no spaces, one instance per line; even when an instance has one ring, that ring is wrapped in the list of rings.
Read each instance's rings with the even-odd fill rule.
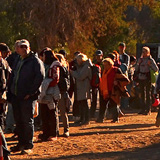
[[[126,85],[129,79],[121,70],[114,66],[114,62],[110,58],[105,58],[103,61],[103,74],[100,82],[100,93],[105,100],[106,107],[100,110],[100,115],[104,118],[105,110],[112,112],[112,122],[118,122],[119,108],[121,96],[127,96]]]

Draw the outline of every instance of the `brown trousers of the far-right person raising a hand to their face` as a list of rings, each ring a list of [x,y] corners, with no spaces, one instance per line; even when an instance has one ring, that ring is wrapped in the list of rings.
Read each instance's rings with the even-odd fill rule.
[[[139,82],[139,91],[141,99],[142,111],[149,112],[151,110],[151,82],[143,80]]]

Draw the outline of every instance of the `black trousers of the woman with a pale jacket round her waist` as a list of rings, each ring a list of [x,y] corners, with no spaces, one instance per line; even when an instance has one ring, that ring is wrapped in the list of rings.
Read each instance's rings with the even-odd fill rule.
[[[50,110],[47,104],[41,104],[41,118],[43,135],[47,139],[50,136],[56,137],[59,134],[59,119],[57,105]]]

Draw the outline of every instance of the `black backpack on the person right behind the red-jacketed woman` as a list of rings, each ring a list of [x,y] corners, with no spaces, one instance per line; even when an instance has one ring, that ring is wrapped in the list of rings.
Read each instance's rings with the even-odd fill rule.
[[[70,76],[69,71],[66,67],[59,67],[60,68],[60,78],[58,82],[58,87],[61,92],[68,91],[70,87]]]

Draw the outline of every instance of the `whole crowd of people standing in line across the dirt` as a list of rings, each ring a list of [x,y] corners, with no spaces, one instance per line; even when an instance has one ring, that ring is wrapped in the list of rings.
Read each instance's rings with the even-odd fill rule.
[[[10,152],[32,151],[34,117],[38,110],[36,119],[42,124],[42,134],[38,135],[41,141],[57,140],[58,111],[63,122],[63,136],[70,136],[70,108],[75,126],[88,125],[93,119],[103,123],[105,115],[110,116],[112,123],[119,122],[124,112],[131,109],[132,97],[136,101],[139,99],[138,114],[150,115],[152,99],[158,99],[160,89],[160,76],[153,85],[151,72],[156,73],[159,68],[149,47],[142,48],[138,60],[129,56],[125,49],[126,44],[121,42],[119,51],[104,55],[97,50],[93,61],[77,51],[68,63],[65,50],[55,53],[46,47],[39,54],[34,53],[30,43],[22,39],[16,41],[12,53],[6,44],[0,43],[0,133],[4,159],[9,159]],[[91,99],[91,106],[88,99]],[[156,126],[160,126],[160,111]],[[17,145],[10,151],[3,132],[14,133],[18,138]]]

